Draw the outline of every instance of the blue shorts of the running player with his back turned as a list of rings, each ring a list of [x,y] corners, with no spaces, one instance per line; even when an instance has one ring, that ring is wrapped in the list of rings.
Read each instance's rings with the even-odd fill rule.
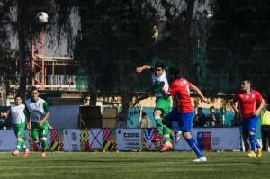
[[[164,118],[170,123],[172,123],[173,121],[177,121],[179,130],[184,132],[191,132],[193,112],[181,113],[178,112],[177,108],[174,108]]]

